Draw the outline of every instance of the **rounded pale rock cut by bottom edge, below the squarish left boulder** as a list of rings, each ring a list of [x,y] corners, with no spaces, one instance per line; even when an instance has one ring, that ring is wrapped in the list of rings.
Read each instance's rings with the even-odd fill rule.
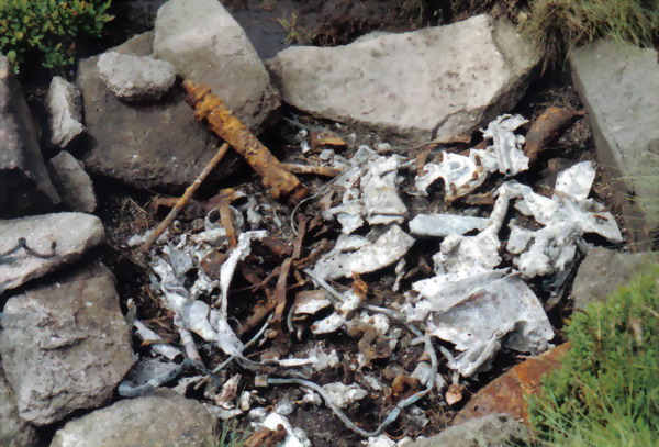
[[[51,447],[204,447],[213,428],[203,405],[160,389],[68,422]]]

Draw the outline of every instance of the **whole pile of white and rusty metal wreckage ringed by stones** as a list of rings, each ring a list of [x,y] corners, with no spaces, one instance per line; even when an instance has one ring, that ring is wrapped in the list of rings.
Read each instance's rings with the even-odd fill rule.
[[[612,214],[588,198],[590,161],[560,172],[552,197],[513,179],[529,168],[525,138],[515,133],[526,122],[500,116],[482,131],[483,144],[436,149],[418,172],[415,158],[386,144],[360,146],[349,159],[321,146],[316,159],[342,174],[310,188],[289,215],[234,194],[243,204],[225,201],[220,212],[160,237],[147,254],[152,290],[180,343],[135,319],[148,355],[120,392],[163,383],[198,390],[217,417],[253,422],[254,443],[269,436],[287,447],[311,445],[288,417],[324,405],[369,445],[393,446],[383,433],[402,413],[416,433],[428,423],[424,398],[445,401],[449,383],[476,380],[502,349],[548,349],[555,334],[546,309],[562,298],[589,249],[583,236],[623,236]],[[306,135],[302,147],[313,154]],[[434,186],[439,179],[443,188]],[[449,206],[484,185],[494,185],[492,204],[462,213],[411,206],[415,197]],[[431,255],[435,241],[434,266],[423,273],[415,259]],[[545,302],[538,284],[548,291]],[[355,343],[336,349],[333,336]],[[327,372],[340,368],[350,372]],[[284,385],[302,391],[275,401],[269,390]],[[378,406],[369,414],[382,421],[350,418],[360,402]]]

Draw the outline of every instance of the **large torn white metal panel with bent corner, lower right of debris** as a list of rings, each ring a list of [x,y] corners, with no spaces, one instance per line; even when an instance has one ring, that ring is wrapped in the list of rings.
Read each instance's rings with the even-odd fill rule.
[[[434,313],[428,333],[465,351],[453,365],[463,376],[483,367],[507,333],[503,346],[533,354],[546,350],[554,338],[540,301],[516,276],[494,280],[447,312]]]

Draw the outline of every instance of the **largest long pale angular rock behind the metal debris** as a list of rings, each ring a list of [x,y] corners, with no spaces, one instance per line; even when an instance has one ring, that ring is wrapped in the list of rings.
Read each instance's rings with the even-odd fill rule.
[[[478,15],[268,60],[286,102],[412,141],[450,141],[509,111],[538,62],[512,25]]]

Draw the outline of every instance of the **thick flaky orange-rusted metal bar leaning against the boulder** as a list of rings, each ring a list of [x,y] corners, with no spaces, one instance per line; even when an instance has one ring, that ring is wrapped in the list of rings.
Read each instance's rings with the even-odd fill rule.
[[[309,195],[300,180],[282,166],[208,86],[186,80],[183,88],[188,92],[186,101],[194,108],[197,120],[206,121],[211,131],[247,160],[272,197],[299,203]]]

